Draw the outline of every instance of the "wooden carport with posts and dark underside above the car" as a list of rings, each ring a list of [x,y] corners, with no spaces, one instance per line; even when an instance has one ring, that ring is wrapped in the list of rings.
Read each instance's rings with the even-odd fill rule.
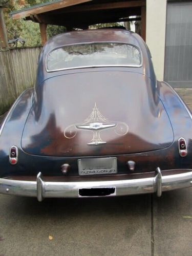
[[[42,45],[47,41],[47,25],[88,29],[90,25],[141,20],[141,36],[146,34],[145,0],[56,0],[14,11],[13,19],[24,18],[39,23]]]

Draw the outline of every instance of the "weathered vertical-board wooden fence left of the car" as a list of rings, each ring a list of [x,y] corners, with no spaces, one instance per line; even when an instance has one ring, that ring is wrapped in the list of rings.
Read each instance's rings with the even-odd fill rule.
[[[33,87],[41,47],[0,51],[0,115],[20,93]]]

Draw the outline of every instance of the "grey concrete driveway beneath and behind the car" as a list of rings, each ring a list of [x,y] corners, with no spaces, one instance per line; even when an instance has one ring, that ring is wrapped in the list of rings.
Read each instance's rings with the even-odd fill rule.
[[[192,90],[179,93],[192,102]],[[0,256],[191,256],[191,198],[191,188],[41,203],[0,195]]]

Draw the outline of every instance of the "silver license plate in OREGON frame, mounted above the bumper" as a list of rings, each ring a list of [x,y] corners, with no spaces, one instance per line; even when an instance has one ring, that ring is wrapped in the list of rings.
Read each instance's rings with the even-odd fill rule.
[[[117,173],[117,158],[84,158],[78,159],[79,175],[105,175]]]

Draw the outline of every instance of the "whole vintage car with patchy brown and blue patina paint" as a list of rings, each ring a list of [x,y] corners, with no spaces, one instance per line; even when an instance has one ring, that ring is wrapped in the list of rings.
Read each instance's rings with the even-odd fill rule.
[[[157,49],[158,51],[158,49]],[[50,39],[0,130],[0,193],[83,198],[192,185],[192,116],[121,29]]]

